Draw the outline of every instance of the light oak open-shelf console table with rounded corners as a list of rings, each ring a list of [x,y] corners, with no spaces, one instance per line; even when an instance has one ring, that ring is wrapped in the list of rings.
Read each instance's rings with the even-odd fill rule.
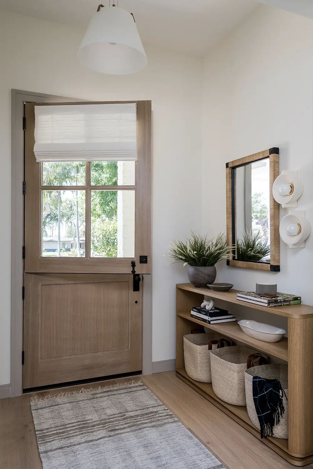
[[[176,375],[260,439],[260,432],[253,427],[246,407],[221,401],[214,394],[211,383],[194,381],[187,375],[183,336],[190,334],[196,323],[288,362],[289,438],[261,441],[291,464],[305,466],[313,462],[313,306],[301,304],[266,308],[238,301],[236,294],[237,290],[216,292],[209,288],[193,287],[191,283],[176,285]],[[288,339],[284,337],[275,343],[263,342],[244,334],[237,322],[211,325],[191,318],[191,308],[201,304],[204,296],[288,318]]]

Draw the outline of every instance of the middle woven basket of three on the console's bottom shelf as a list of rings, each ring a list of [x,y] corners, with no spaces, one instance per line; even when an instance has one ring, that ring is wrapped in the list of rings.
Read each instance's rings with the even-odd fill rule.
[[[252,365],[247,365],[247,361],[255,354],[258,359],[266,359],[267,363],[266,355],[250,347],[234,346],[211,350],[213,391],[222,401],[235,406],[245,406],[244,371],[247,366]]]

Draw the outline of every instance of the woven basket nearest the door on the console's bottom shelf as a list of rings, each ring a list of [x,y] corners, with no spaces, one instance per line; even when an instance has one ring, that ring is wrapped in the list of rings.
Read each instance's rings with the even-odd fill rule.
[[[212,382],[208,345],[212,340],[220,339],[223,337],[216,333],[196,333],[183,336],[183,356],[188,376],[202,383]],[[212,349],[214,348],[217,348],[217,344],[212,344]]]

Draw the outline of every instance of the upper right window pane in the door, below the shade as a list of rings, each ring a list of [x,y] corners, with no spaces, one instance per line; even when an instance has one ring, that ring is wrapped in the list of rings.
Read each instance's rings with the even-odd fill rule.
[[[134,186],[135,161],[92,161],[92,186]]]

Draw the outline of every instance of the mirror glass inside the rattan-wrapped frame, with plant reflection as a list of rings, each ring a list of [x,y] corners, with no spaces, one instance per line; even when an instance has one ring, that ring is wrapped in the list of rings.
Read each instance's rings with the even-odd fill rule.
[[[236,259],[270,263],[269,158],[233,172]]]

